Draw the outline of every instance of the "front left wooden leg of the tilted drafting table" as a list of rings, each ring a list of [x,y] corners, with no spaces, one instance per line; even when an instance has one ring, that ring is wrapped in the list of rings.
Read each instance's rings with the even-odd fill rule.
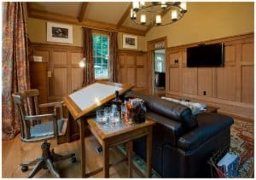
[[[85,119],[79,119],[79,125],[80,125],[80,144],[81,144],[81,171],[82,171],[82,177],[85,177],[85,144],[84,144],[84,120]]]

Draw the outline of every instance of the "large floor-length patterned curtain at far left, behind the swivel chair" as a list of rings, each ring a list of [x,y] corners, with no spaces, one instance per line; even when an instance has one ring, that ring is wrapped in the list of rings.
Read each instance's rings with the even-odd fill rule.
[[[2,138],[20,132],[20,117],[12,94],[30,88],[26,14],[23,3],[3,3]]]

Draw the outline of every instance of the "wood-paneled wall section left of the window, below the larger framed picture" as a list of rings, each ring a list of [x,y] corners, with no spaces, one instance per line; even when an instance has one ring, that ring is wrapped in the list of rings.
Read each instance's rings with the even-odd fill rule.
[[[48,101],[61,101],[73,90],[82,88],[83,68],[79,61],[83,57],[82,47],[53,44],[33,44],[33,54],[43,56],[48,62]]]

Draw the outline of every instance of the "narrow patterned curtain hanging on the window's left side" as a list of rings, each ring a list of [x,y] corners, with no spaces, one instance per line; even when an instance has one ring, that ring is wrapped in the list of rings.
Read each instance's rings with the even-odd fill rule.
[[[94,62],[93,62],[93,44],[92,44],[92,32],[90,28],[84,28],[84,57],[85,67],[84,67],[84,81],[83,86],[94,83]]]

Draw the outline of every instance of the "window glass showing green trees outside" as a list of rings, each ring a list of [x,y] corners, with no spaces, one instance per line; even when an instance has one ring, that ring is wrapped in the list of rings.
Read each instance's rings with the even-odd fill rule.
[[[93,34],[93,60],[95,78],[108,78],[108,55],[109,55],[109,38],[108,35]]]

